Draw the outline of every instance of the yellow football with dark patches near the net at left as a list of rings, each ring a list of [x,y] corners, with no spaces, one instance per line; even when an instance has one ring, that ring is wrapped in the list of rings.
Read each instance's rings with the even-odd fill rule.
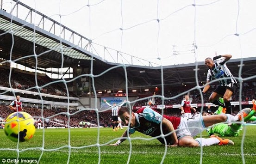
[[[35,120],[26,112],[15,112],[6,118],[5,134],[14,142],[24,142],[35,134]]]

